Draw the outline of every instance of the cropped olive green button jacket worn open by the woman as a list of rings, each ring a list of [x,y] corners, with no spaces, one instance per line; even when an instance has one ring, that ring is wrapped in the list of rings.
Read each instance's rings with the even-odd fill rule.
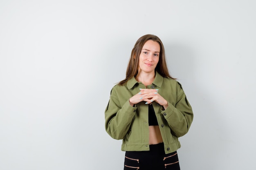
[[[105,110],[105,128],[114,139],[123,139],[121,150],[149,150],[148,105],[144,101],[130,106],[129,99],[139,93],[144,84],[135,78],[126,85],[115,85]],[[165,153],[180,148],[178,137],[185,135],[193,120],[192,108],[179,82],[156,72],[155,80],[147,88],[159,89],[158,93],[168,102],[168,107],[153,102],[153,107],[164,141]]]

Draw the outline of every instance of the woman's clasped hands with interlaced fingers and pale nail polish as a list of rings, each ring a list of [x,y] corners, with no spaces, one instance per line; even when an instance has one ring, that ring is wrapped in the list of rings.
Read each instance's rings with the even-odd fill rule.
[[[167,108],[168,102],[166,101],[166,99],[164,99],[164,97],[159,95],[158,89],[140,88],[139,90],[139,93],[129,99],[131,106],[141,101],[145,101],[145,104],[150,104],[155,101],[158,104],[164,106],[164,108]]]

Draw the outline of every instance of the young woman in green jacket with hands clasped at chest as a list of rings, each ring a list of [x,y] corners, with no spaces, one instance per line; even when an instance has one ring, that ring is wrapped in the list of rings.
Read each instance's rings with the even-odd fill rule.
[[[135,43],[126,78],[112,88],[105,127],[123,139],[124,170],[180,170],[178,137],[192,123],[182,86],[169,75],[164,46],[155,35]]]

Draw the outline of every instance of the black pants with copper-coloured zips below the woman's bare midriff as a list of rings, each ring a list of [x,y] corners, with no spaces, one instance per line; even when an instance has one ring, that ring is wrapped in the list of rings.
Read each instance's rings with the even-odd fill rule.
[[[180,170],[176,151],[165,154],[164,143],[149,148],[149,151],[126,151],[124,170]]]

